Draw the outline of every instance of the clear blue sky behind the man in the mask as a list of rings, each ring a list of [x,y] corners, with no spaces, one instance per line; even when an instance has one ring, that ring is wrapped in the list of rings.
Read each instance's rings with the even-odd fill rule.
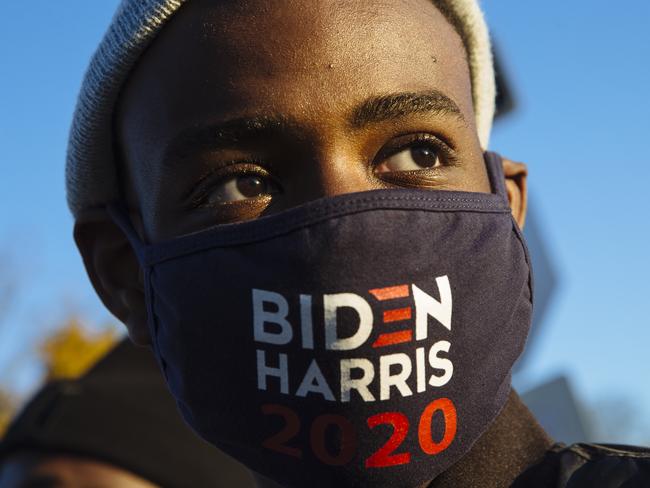
[[[47,330],[71,312],[113,320],[72,241],[63,167],[82,74],[117,3],[0,0],[0,289],[16,287],[0,316],[0,383],[18,392],[39,377]],[[650,442],[650,2],[484,7],[519,103],[491,148],[529,164],[560,279],[516,385],[565,373],[587,404],[632,405]]]

